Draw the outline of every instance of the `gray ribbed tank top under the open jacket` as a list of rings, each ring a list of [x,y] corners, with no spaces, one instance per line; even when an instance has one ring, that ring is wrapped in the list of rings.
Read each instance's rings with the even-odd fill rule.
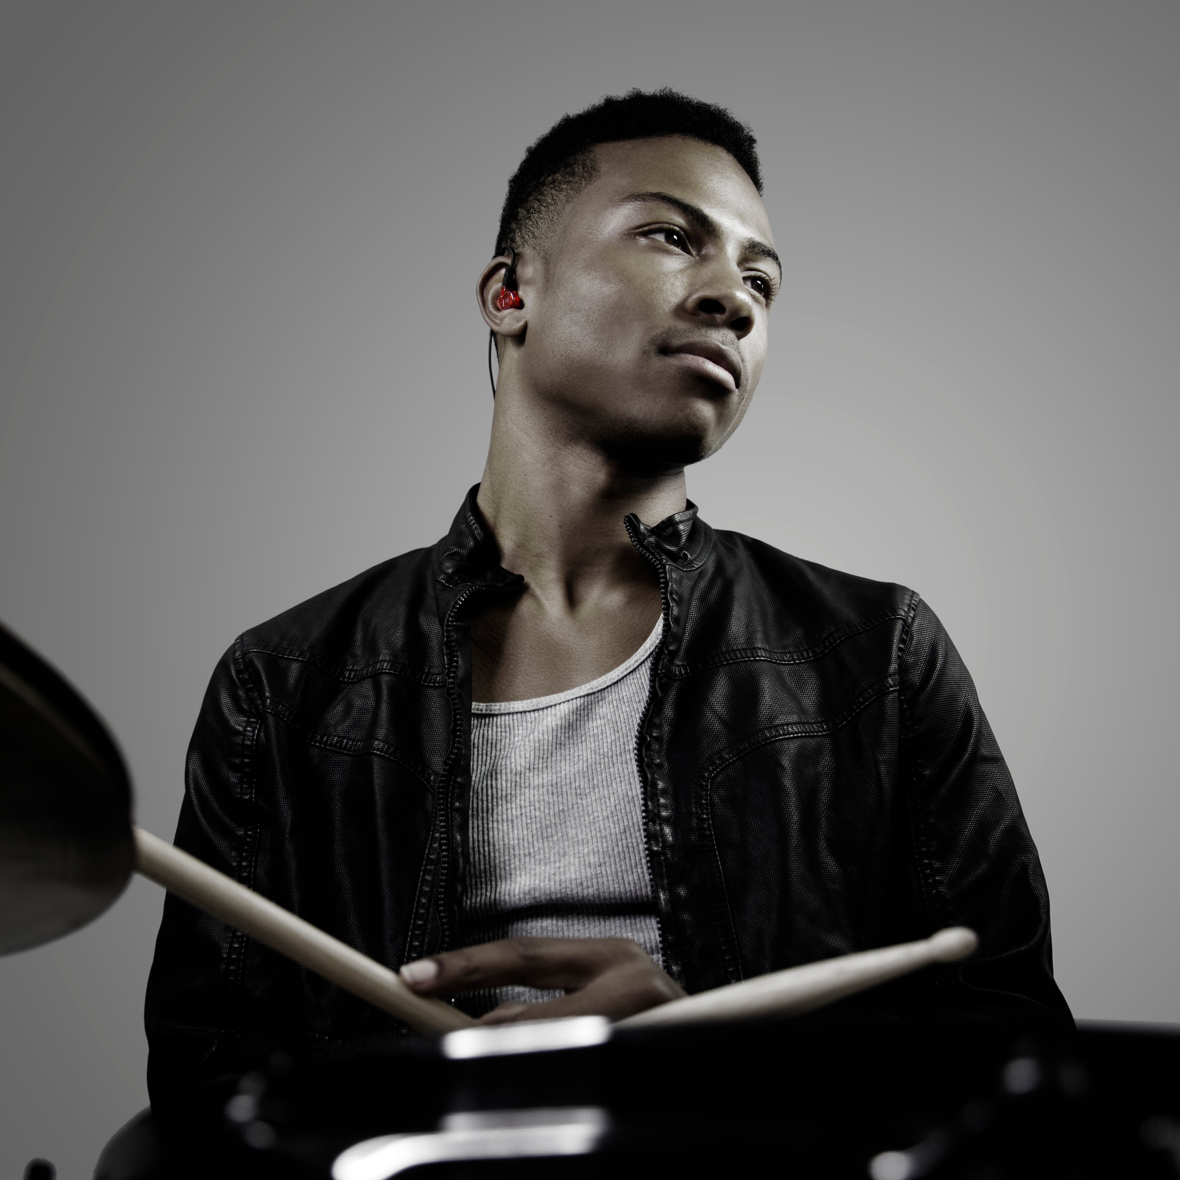
[[[463,943],[546,935],[634,938],[657,963],[635,741],[656,624],[589,684],[471,707],[471,870]],[[500,988],[493,997],[558,992]]]

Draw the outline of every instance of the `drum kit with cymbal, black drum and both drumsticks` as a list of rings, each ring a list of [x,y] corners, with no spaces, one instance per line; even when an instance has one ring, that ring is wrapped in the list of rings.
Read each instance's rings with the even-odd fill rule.
[[[106,727],[0,628],[0,955],[91,922],[132,872],[420,1036],[306,1060],[260,1050],[243,1076],[132,1120],[96,1180],[1180,1175],[1176,1031],[1017,1035],[948,1014],[835,1003],[968,957],[976,938],[963,927],[617,1023],[478,1025],[135,827],[130,778]]]

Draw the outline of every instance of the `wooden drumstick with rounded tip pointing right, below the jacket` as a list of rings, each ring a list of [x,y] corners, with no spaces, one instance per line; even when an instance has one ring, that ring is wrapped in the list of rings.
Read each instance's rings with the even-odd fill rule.
[[[618,1023],[623,1028],[638,1028],[755,1016],[795,1016],[932,963],[955,963],[974,953],[978,945],[974,930],[949,926],[920,942],[841,955],[673,999]]]

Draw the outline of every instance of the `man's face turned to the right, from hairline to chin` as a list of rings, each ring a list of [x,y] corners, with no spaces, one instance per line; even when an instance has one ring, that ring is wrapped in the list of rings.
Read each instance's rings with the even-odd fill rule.
[[[781,277],[766,210],[733,157],[697,139],[604,144],[597,162],[543,256],[523,258],[514,375],[618,459],[694,463],[762,374]]]

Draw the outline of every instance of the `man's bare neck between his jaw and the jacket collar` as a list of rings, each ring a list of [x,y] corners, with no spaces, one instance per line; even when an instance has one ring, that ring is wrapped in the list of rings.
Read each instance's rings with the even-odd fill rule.
[[[524,576],[546,612],[576,611],[653,571],[635,551],[623,517],[655,524],[684,507],[683,468],[636,472],[555,415],[497,395],[479,509],[500,563]]]

